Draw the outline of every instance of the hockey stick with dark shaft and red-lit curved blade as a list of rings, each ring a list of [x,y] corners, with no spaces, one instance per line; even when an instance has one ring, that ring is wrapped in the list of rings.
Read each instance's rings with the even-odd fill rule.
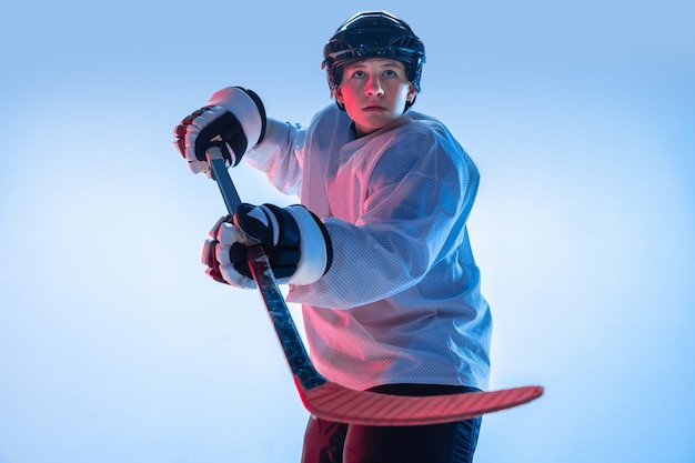
[[[219,149],[210,149],[208,160],[226,209],[233,214],[241,200]],[[523,386],[492,392],[404,396],[355,391],[332,383],[312,365],[263,248],[260,244],[249,248],[246,259],[294,376],[300,397],[314,416],[380,426],[435,424],[511,409],[543,394],[541,386]]]

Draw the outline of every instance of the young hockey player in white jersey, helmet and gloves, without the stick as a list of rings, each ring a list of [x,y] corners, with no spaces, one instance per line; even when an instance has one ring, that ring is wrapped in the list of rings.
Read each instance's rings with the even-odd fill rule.
[[[384,394],[487,387],[492,321],[466,220],[479,173],[436,119],[411,109],[425,49],[401,19],[360,12],[324,48],[335,104],[309,127],[265,117],[242,88],[212,95],[175,129],[194,173],[220,147],[302,205],[242,204],[203,261],[216,281],[254,285],[244,246],[261,242],[288,301],[302,304],[311,358],[332,382]],[[302,461],[471,462],[480,419],[363,426],[310,419]]]

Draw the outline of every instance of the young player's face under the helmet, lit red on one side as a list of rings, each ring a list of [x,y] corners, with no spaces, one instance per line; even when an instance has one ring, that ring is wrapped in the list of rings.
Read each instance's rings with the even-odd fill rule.
[[[345,105],[357,134],[365,135],[401,117],[416,93],[401,61],[367,58],[345,64],[335,99]]]

